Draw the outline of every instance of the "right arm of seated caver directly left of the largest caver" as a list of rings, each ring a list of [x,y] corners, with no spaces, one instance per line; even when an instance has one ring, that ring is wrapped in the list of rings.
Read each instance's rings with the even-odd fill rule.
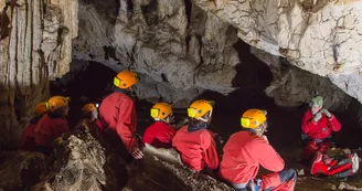
[[[220,158],[216,151],[216,144],[212,132],[204,134],[201,137],[202,148],[204,148],[203,158],[209,169],[217,169]]]

